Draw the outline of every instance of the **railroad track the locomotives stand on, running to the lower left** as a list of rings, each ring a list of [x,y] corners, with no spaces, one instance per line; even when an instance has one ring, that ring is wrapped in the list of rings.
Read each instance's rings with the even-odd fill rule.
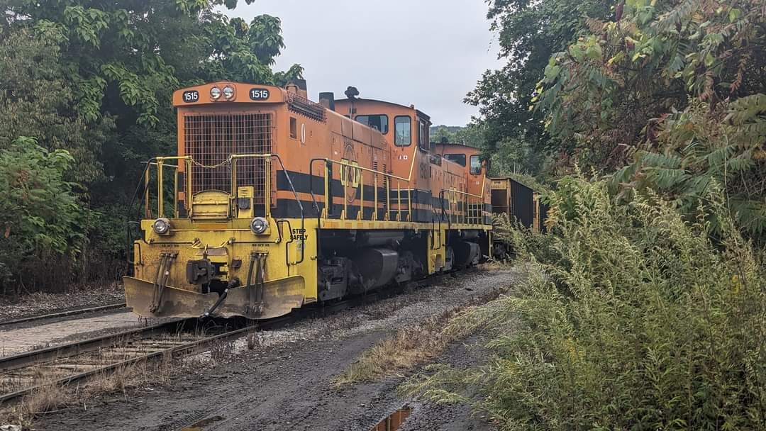
[[[431,276],[413,283],[414,286],[401,286],[359,295],[332,305],[299,309],[290,315],[250,321],[242,328],[213,335],[201,335],[195,318],[179,319],[0,358],[0,404],[16,400],[41,387],[64,386],[95,376],[108,377],[122,367],[142,361],[201,353],[207,351],[211,344],[240,338],[248,331],[282,328],[305,318],[339,312],[398,295],[408,288],[430,286],[442,280],[443,276]]]

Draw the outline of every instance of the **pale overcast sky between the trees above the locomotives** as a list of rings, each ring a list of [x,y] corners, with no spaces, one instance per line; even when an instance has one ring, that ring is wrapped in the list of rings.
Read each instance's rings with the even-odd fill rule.
[[[286,48],[277,69],[306,68],[309,96],[362,97],[414,104],[435,125],[463,126],[476,108],[463,97],[498,66],[483,0],[257,0],[230,16],[282,19]]]

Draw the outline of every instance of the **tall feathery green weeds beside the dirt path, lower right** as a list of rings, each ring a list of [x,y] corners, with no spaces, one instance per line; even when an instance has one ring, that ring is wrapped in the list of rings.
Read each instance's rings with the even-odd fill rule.
[[[699,212],[614,204],[601,182],[553,195],[538,268],[487,315],[493,359],[404,389],[466,401],[502,429],[766,429],[766,271],[718,194]],[[545,253],[541,253],[544,251]],[[538,260],[545,256],[545,260]]]

